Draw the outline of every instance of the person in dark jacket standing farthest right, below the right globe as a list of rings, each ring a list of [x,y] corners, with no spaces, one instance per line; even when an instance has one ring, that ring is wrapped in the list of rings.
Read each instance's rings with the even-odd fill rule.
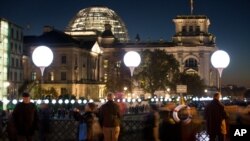
[[[222,130],[221,126],[223,121],[228,118],[224,105],[220,102],[220,93],[215,93],[213,100],[205,107],[205,119],[207,122],[207,133],[209,134],[210,141],[215,141],[216,137],[218,141],[225,140],[225,130]],[[225,128],[225,127],[224,127]]]

